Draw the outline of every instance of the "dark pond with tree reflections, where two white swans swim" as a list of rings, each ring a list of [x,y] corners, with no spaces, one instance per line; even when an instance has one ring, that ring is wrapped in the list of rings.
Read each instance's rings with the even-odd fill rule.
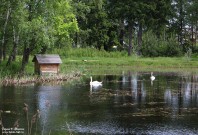
[[[145,71],[93,75],[103,81],[99,87],[90,87],[88,75],[73,83],[1,86],[1,132],[197,134],[198,74],[154,75],[154,81]]]

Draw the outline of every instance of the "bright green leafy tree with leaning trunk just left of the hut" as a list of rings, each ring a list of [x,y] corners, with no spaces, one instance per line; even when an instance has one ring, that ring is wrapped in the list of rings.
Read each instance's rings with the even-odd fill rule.
[[[66,41],[71,41],[70,34],[78,30],[70,1],[30,0],[27,3],[27,13],[27,22],[23,28],[22,72],[28,63],[31,52],[35,50],[43,52],[50,45],[54,46],[55,44],[60,47]],[[27,35],[28,37],[24,37]]]

